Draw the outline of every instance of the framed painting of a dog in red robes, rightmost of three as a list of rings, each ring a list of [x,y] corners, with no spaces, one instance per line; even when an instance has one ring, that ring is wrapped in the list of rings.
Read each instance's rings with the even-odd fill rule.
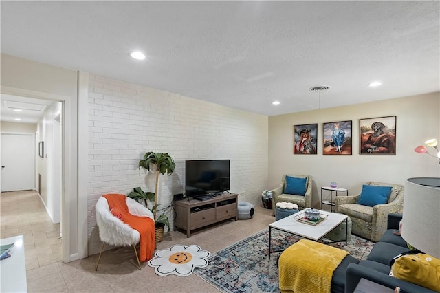
[[[361,155],[396,154],[396,116],[359,120]]]

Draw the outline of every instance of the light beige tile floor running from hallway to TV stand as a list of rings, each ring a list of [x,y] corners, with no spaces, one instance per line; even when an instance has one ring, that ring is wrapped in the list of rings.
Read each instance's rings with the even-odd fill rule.
[[[219,292],[196,274],[158,276],[146,263],[138,270],[130,247],[103,252],[97,272],[98,254],[63,263],[59,225],[51,223],[38,195],[30,191],[1,193],[0,200],[1,237],[25,235],[28,292]],[[190,238],[184,231],[172,231],[157,243],[157,249],[197,244],[214,253],[267,228],[274,220],[272,210],[256,206],[252,219],[223,221],[192,232]]]

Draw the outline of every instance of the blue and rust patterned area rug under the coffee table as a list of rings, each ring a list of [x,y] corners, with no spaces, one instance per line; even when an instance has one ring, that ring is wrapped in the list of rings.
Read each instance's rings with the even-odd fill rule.
[[[285,249],[300,239],[303,238],[272,229],[272,251]],[[347,245],[330,245],[347,250],[355,258],[366,259],[374,243],[352,235]],[[269,228],[213,254],[206,268],[194,273],[223,292],[280,292],[276,261],[281,252],[272,252],[268,259],[268,250]]]

